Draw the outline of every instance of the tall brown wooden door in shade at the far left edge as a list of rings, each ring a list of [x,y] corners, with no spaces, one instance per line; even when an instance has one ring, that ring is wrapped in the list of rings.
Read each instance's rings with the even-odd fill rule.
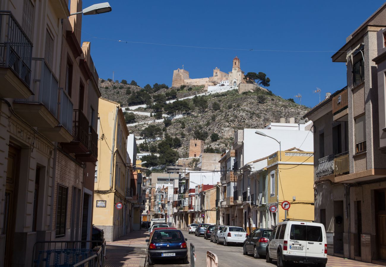
[[[8,150],[7,180],[5,183],[4,201],[5,267],[12,265],[12,251],[15,235],[15,211],[19,180],[18,166],[20,166],[19,155],[19,150],[10,145]]]

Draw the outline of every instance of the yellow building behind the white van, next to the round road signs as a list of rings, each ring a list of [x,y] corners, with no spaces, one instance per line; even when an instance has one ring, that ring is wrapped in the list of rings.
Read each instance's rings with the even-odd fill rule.
[[[268,211],[274,225],[284,220],[283,201],[290,203],[287,218],[314,220],[313,152],[279,151],[268,156],[266,174],[266,206],[276,205],[276,213]]]

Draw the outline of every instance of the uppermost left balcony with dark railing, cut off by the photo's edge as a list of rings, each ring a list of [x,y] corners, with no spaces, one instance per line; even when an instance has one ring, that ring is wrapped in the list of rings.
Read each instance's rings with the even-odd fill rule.
[[[29,98],[32,42],[10,11],[0,12],[0,25],[0,96]]]

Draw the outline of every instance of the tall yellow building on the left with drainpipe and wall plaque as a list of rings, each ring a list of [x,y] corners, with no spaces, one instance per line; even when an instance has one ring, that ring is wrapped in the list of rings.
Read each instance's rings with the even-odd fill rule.
[[[99,161],[94,187],[96,204],[93,223],[104,230],[106,241],[116,240],[129,232],[131,204],[125,199],[130,175],[130,159],[126,150],[128,135],[119,103],[99,98]]]

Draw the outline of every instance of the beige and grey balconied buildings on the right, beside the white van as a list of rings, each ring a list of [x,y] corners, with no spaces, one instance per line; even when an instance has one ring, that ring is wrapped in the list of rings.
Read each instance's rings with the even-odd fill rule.
[[[332,56],[347,65],[347,87],[305,115],[314,121],[315,220],[326,226],[328,253],[380,264],[386,260],[385,15],[383,4],[347,37]]]

